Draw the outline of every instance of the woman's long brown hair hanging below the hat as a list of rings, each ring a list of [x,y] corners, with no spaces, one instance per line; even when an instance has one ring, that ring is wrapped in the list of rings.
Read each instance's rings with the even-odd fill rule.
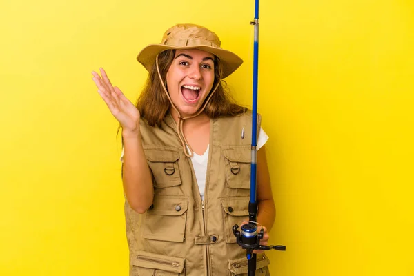
[[[162,81],[166,83],[168,68],[175,58],[175,50],[165,50],[158,57],[159,72]],[[246,112],[246,108],[234,103],[233,98],[228,95],[225,81],[221,80],[221,63],[215,56],[214,61],[215,78],[213,88],[220,82],[214,95],[208,101],[204,113],[210,118],[235,116]],[[207,99],[207,97],[206,97]],[[154,63],[148,74],[144,90],[137,99],[136,106],[142,118],[146,119],[150,126],[159,126],[170,110],[171,103],[168,100],[157,72],[157,65]]]

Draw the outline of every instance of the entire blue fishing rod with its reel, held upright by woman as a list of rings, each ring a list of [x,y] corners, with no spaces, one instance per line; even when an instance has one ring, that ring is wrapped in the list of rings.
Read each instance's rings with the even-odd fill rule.
[[[286,250],[286,246],[262,246],[263,228],[257,231],[257,201],[256,201],[256,172],[257,172],[257,79],[259,69],[259,0],[255,0],[255,19],[250,22],[255,28],[255,42],[253,49],[253,110],[252,110],[252,147],[250,166],[250,201],[248,204],[248,224],[237,230],[239,226],[233,226],[233,234],[236,236],[237,244],[246,250],[248,259],[248,276],[255,276],[256,254],[253,250]]]

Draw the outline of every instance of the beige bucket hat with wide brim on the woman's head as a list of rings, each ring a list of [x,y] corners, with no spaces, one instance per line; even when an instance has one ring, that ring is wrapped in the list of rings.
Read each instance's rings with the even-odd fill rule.
[[[137,60],[149,71],[157,55],[170,49],[199,49],[216,55],[223,66],[223,78],[235,72],[243,63],[243,59],[235,53],[221,48],[221,41],[217,34],[195,24],[172,26],[164,33],[161,44],[146,46],[139,52]]]

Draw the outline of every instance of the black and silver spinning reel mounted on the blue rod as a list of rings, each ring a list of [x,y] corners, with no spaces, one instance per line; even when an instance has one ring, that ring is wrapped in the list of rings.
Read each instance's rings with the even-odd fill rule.
[[[263,246],[260,244],[260,240],[263,239],[264,230],[257,231],[257,225],[253,221],[248,221],[248,224],[243,224],[242,231],[237,230],[239,226],[235,224],[233,226],[233,234],[236,236],[236,241],[239,246],[242,246],[246,250],[247,259],[250,260],[253,257],[253,250],[281,250],[285,251],[286,246]]]

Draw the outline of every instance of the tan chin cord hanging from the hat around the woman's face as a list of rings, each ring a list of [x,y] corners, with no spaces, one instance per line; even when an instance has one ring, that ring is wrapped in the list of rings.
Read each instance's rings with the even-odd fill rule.
[[[181,116],[181,113],[179,112],[178,108],[174,105],[174,103],[172,103],[172,100],[171,100],[170,94],[168,93],[167,88],[166,88],[166,86],[164,85],[164,81],[162,81],[161,73],[159,72],[159,66],[158,66],[158,55],[157,55],[157,57],[155,58],[155,63],[157,64],[157,72],[158,72],[158,77],[159,77],[159,80],[161,81],[162,88],[164,88],[164,92],[166,92],[166,95],[167,95],[167,97],[168,97],[168,100],[169,100],[169,101],[170,101],[170,103],[171,103],[172,108],[174,108],[175,112],[177,112],[177,114],[178,114],[177,132],[178,132],[178,137],[179,137],[179,140],[181,141],[181,144],[182,144],[183,149],[184,149],[184,155],[186,155],[186,157],[193,157],[193,152],[194,152],[194,151],[193,151],[193,148],[191,148],[190,144],[188,144],[188,141],[187,141],[186,137],[184,136],[184,128],[183,128],[183,125],[184,125],[184,120],[186,120],[186,119],[191,119],[191,118],[194,118],[194,117],[197,117],[198,115],[200,115],[200,114],[201,114],[201,112],[203,112],[203,111],[204,111],[204,109],[205,109],[205,108],[206,108],[206,106],[207,106],[208,101],[210,101],[210,99],[211,99],[211,97],[213,96],[214,92],[215,92],[215,91],[217,90],[217,88],[219,87],[219,85],[220,85],[220,81],[217,83],[217,85],[215,86],[214,90],[213,90],[212,92],[210,92],[210,95],[208,95],[207,100],[206,100],[206,101],[204,101],[204,105],[203,105],[203,106],[199,109],[199,111],[198,111],[198,112],[196,112],[196,113],[195,113],[195,115],[191,115],[191,116],[188,116],[188,117],[184,117],[184,118],[183,118],[183,117]],[[188,148],[190,149],[190,153],[188,153],[186,146],[188,146]]]

